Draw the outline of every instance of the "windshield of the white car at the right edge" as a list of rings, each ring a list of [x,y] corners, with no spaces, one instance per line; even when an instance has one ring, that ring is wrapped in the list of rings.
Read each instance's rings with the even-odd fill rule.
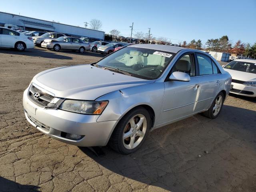
[[[232,61],[229,64],[227,64],[224,68],[256,74],[256,63]]]

